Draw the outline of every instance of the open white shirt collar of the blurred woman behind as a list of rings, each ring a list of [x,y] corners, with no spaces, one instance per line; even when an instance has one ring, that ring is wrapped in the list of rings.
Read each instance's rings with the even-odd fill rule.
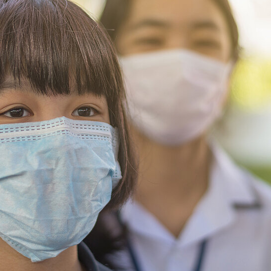
[[[172,244],[177,242],[177,246],[184,247],[209,238],[233,224],[237,216],[234,206],[250,208],[259,204],[252,185],[254,177],[237,167],[215,143],[211,144],[211,149],[214,161],[208,190],[177,240],[152,214],[131,201],[121,212],[129,228],[146,237],[163,239]]]

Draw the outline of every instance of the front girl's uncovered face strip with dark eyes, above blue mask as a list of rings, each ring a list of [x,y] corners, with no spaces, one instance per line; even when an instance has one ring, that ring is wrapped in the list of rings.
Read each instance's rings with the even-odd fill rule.
[[[27,81],[19,87],[10,78],[0,89],[0,124],[43,121],[62,116],[110,124],[105,96],[78,95],[76,92],[71,95],[36,94]]]

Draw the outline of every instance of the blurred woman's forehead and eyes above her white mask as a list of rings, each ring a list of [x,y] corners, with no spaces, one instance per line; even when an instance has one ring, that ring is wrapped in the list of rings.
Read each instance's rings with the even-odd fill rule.
[[[230,32],[214,0],[132,0],[117,33],[120,55],[183,48],[228,62]]]

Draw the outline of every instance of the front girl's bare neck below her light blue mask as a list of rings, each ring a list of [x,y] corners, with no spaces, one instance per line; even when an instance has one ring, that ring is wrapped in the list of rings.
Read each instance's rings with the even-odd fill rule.
[[[85,271],[78,260],[77,246],[68,248],[57,257],[32,263],[0,238],[0,271]]]

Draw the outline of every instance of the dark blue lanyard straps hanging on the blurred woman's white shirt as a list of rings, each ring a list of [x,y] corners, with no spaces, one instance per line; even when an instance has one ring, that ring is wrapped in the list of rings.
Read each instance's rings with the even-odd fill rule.
[[[205,251],[206,251],[206,245],[207,245],[207,240],[203,240],[199,246],[199,252],[197,256],[197,260],[195,262],[195,267],[193,271],[201,271],[202,270],[202,265],[203,265],[203,260],[205,256]],[[131,261],[133,263],[135,271],[142,271],[139,261],[137,260],[137,257],[135,255],[135,252],[132,248],[130,240],[127,239],[127,248],[131,257]]]

